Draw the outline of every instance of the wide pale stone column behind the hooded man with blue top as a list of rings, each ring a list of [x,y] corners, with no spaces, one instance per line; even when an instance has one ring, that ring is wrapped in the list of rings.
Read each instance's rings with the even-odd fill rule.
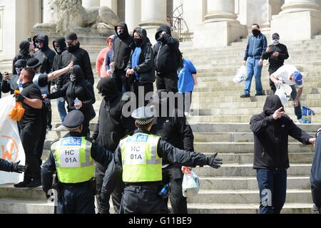
[[[166,0],[141,0],[141,23],[139,26],[145,28],[151,43],[156,43],[155,33],[166,21]]]

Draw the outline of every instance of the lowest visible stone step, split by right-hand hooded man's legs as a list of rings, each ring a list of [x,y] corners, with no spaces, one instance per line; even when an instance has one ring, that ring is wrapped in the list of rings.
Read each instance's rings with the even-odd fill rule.
[[[285,204],[282,214],[312,214],[313,204]],[[258,214],[259,204],[188,204],[190,214]]]

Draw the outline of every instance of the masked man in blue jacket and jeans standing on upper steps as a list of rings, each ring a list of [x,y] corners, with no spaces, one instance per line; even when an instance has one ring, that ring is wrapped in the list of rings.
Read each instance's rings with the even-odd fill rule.
[[[263,95],[263,88],[261,82],[261,73],[263,68],[263,53],[267,48],[266,37],[261,33],[260,26],[253,24],[252,35],[248,39],[248,46],[246,46],[243,65],[248,64],[246,68],[245,88],[241,98],[250,97],[251,82],[254,75],[255,78],[255,95]]]

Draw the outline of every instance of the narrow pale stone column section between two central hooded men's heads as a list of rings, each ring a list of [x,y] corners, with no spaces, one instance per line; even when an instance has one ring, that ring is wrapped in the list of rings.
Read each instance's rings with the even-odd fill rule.
[[[141,22],[141,0],[125,1],[125,22],[130,33]]]

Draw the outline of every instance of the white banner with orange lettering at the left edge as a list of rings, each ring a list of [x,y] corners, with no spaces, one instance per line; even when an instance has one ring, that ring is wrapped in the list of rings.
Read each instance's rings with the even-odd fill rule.
[[[0,157],[11,162],[25,163],[24,147],[22,147],[18,126],[9,118],[9,113],[16,101],[13,95],[0,99]],[[0,184],[17,183],[24,180],[24,173],[0,171]]]

